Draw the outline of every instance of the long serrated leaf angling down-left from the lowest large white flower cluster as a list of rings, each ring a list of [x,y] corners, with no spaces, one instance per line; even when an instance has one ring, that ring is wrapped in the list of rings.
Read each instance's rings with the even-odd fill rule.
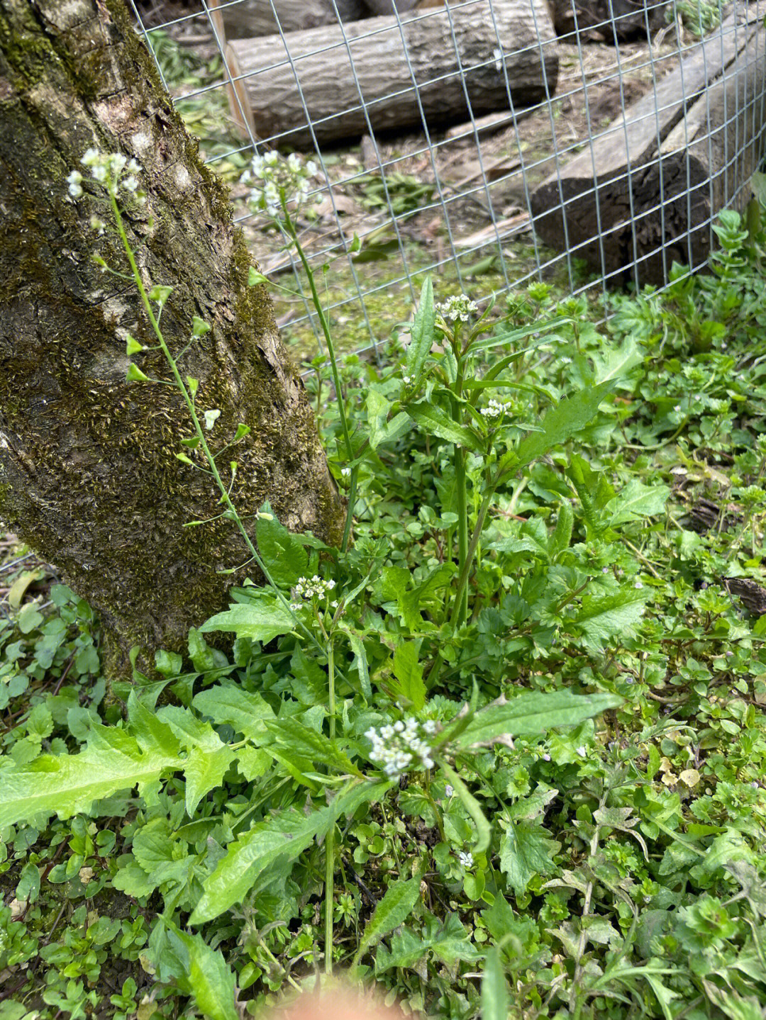
[[[257,822],[232,844],[215,871],[203,882],[202,897],[189,919],[203,924],[242,902],[261,872],[279,858],[294,861],[315,838],[326,834],[341,814],[353,814],[365,801],[381,797],[391,783],[357,782],[326,808],[305,814],[288,808]]]

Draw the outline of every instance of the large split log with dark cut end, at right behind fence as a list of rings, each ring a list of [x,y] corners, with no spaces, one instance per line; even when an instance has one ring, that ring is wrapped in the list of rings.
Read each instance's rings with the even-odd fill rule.
[[[673,260],[700,266],[711,218],[744,208],[764,152],[765,51],[760,19],[730,15],[532,193],[541,239],[613,283],[662,284]]]

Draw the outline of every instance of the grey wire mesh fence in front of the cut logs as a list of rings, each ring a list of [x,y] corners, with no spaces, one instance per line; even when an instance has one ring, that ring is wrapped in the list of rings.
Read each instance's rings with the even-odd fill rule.
[[[279,323],[304,355],[310,333],[321,348],[305,275],[238,184],[254,153],[316,163],[301,240],[331,266],[347,350],[385,341],[428,272],[480,299],[698,269],[764,153],[762,0],[132,2],[263,272],[293,291]]]

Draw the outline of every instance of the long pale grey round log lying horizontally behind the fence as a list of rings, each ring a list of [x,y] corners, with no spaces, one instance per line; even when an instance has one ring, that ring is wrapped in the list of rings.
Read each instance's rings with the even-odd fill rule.
[[[510,101],[540,102],[553,96],[558,75],[546,0],[479,0],[435,7],[404,24],[371,17],[234,40],[226,60],[253,133],[285,135],[295,148],[312,144],[309,118],[320,143],[370,124],[401,130],[425,117],[432,126],[509,109]],[[235,117],[238,110],[233,104]]]

